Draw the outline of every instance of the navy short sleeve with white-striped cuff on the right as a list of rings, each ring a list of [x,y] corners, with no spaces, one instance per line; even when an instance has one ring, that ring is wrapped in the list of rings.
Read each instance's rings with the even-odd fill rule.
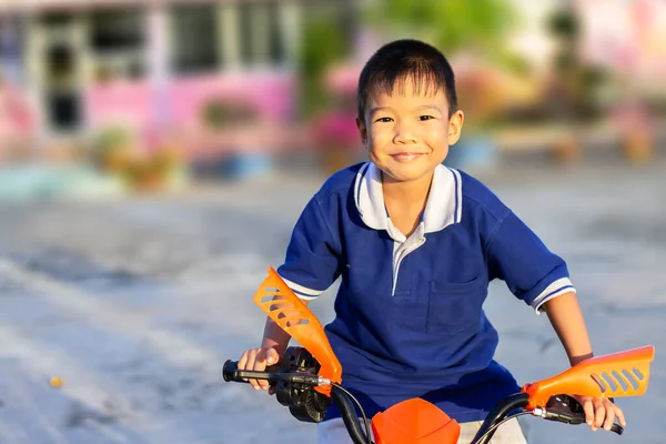
[[[537,313],[556,296],[575,292],[562,258],[551,252],[513,212],[501,222],[487,248],[488,274]]]

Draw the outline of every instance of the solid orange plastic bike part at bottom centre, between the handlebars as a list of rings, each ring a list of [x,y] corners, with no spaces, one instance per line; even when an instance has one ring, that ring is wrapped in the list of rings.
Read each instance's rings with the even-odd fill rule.
[[[375,444],[455,444],[461,426],[420,397],[397,403],[372,418]]]

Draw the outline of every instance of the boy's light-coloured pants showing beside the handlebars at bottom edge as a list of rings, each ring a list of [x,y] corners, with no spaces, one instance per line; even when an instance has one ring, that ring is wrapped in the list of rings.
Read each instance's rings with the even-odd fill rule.
[[[481,421],[462,423],[458,444],[470,444],[481,424]],[[342,418],[335,418],[316,425],[316,443],[352,444],[352,438],[344,427]],[[491,444],[527,444],[527,441],[525,440],[525,435],[523,435],[518,421],[513,418],[497,428],[497,432],[495,432],[495,435],[491,440]]]

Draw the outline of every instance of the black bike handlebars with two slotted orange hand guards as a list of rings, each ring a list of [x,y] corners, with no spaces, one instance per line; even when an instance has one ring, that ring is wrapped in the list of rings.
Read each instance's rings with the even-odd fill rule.
[[[224,380],[246,382],[255,379],[276,384],[278,401],[289,406],[292,415],[300,421],[323,421],[333,398],[354,444],[371,443],[370,433],[361,431],[359,415],[351,404],[351,401],[356,404],[357,401],[340,385],[342,366],[314,314],[272,268],[253,300],[273,322],[302,344],[302,350],[292,350],[290,359],[283,360],[278,372],[273,372],[274,367],[264,372],[239,371],[238,363],[228,361],[222,372]],[[567,393],[606,397],[644,394],[654,353],[655,347],[648,345],[589,357],[558,375],[525,384],[521,394],[498,403],[488,413],[473,444],[487,444],[500,424],[517,414],[531,413],[568,424],[584,423],[584,412],[582,408],[576,411],[578,404],[564,395]],[[360,404],[359,407],[367,427],[363,408]],[[518,407],[523,412],[514,413]],[[617,424],[612,430],[617,434],[623,432]]]

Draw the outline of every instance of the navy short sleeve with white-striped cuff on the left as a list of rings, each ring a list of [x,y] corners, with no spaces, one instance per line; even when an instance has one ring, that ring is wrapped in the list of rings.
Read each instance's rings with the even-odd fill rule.
[[[340,252],[316,199],[312,199],[296,222],[284,263],[278,274],[301,299],[311,300],[324,292],[340,275]]]

